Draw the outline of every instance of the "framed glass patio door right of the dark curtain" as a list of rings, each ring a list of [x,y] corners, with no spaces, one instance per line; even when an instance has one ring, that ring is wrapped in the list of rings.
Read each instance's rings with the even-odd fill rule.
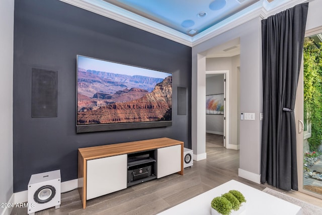
[[[322,199],[322,26],[307,31],[295,100],[300,192]],[[316,97],[317,96],[317,97]],[[317,119],[316,119],[317,117]]]

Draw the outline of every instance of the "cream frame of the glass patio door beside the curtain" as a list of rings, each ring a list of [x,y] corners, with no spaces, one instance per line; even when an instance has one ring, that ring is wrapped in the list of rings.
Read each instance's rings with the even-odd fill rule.
[[[322,33],[322,26],[308,30],[305,32],[305,37],[313,36],[315,34]],[[304,97],[304,83],[303,83],[303,57],[300,68],[300,74],[298,79],[297,91],[296,91],[296,100],[295,100],[295,125],[296,125],[296,148],[297,148],[297,178],[298,178],[298,191],[314,196],[316,198],[322,199],[322,195],[305,190],[303,188],[303,130],[302,123],[304,121],[304,107],[303,107],[303,97]],[[302,131],[301,131],[302,130]],[[300,132],[301,131],[301,132]]]

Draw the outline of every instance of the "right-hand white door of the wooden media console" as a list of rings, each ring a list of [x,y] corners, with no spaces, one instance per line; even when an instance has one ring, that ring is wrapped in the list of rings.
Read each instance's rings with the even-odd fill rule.
[[[157,149],[157,178],[181,171],[181,145]]]

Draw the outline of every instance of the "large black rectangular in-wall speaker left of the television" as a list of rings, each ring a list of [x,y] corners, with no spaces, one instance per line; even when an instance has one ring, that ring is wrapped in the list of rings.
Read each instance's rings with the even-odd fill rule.
[[[32,68],[32,117],[57,117],[58,72]]]

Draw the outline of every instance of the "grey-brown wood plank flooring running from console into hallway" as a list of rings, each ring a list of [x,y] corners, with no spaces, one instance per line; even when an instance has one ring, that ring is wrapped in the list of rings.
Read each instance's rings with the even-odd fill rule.
[[[191,168],[185,169],[183,176],[172,174],[88,200],[86,209],[82,208],[78,190],[72,190],[62,193],[60,208],[45,209],[36,212],[36,215],[150,215],[177,205],[231,179],[259,190],[263,190],[266,187],[266,185],[238,177],[239,151],[223,148],[221,135],[207,134],[206,140],[207,159],[198,162],[194,161],[194,165]],[[271,186],[268,187],[274,189]],[[314,204],[311,198],[316,201],[317,205],[322,202],[314,197],[303,195],[304,197],[302,198],[308,199],[310,203]],[[299,196],[295,197],[299,198]],[[27,208],[14,208],[11,214],[27,214]]]

